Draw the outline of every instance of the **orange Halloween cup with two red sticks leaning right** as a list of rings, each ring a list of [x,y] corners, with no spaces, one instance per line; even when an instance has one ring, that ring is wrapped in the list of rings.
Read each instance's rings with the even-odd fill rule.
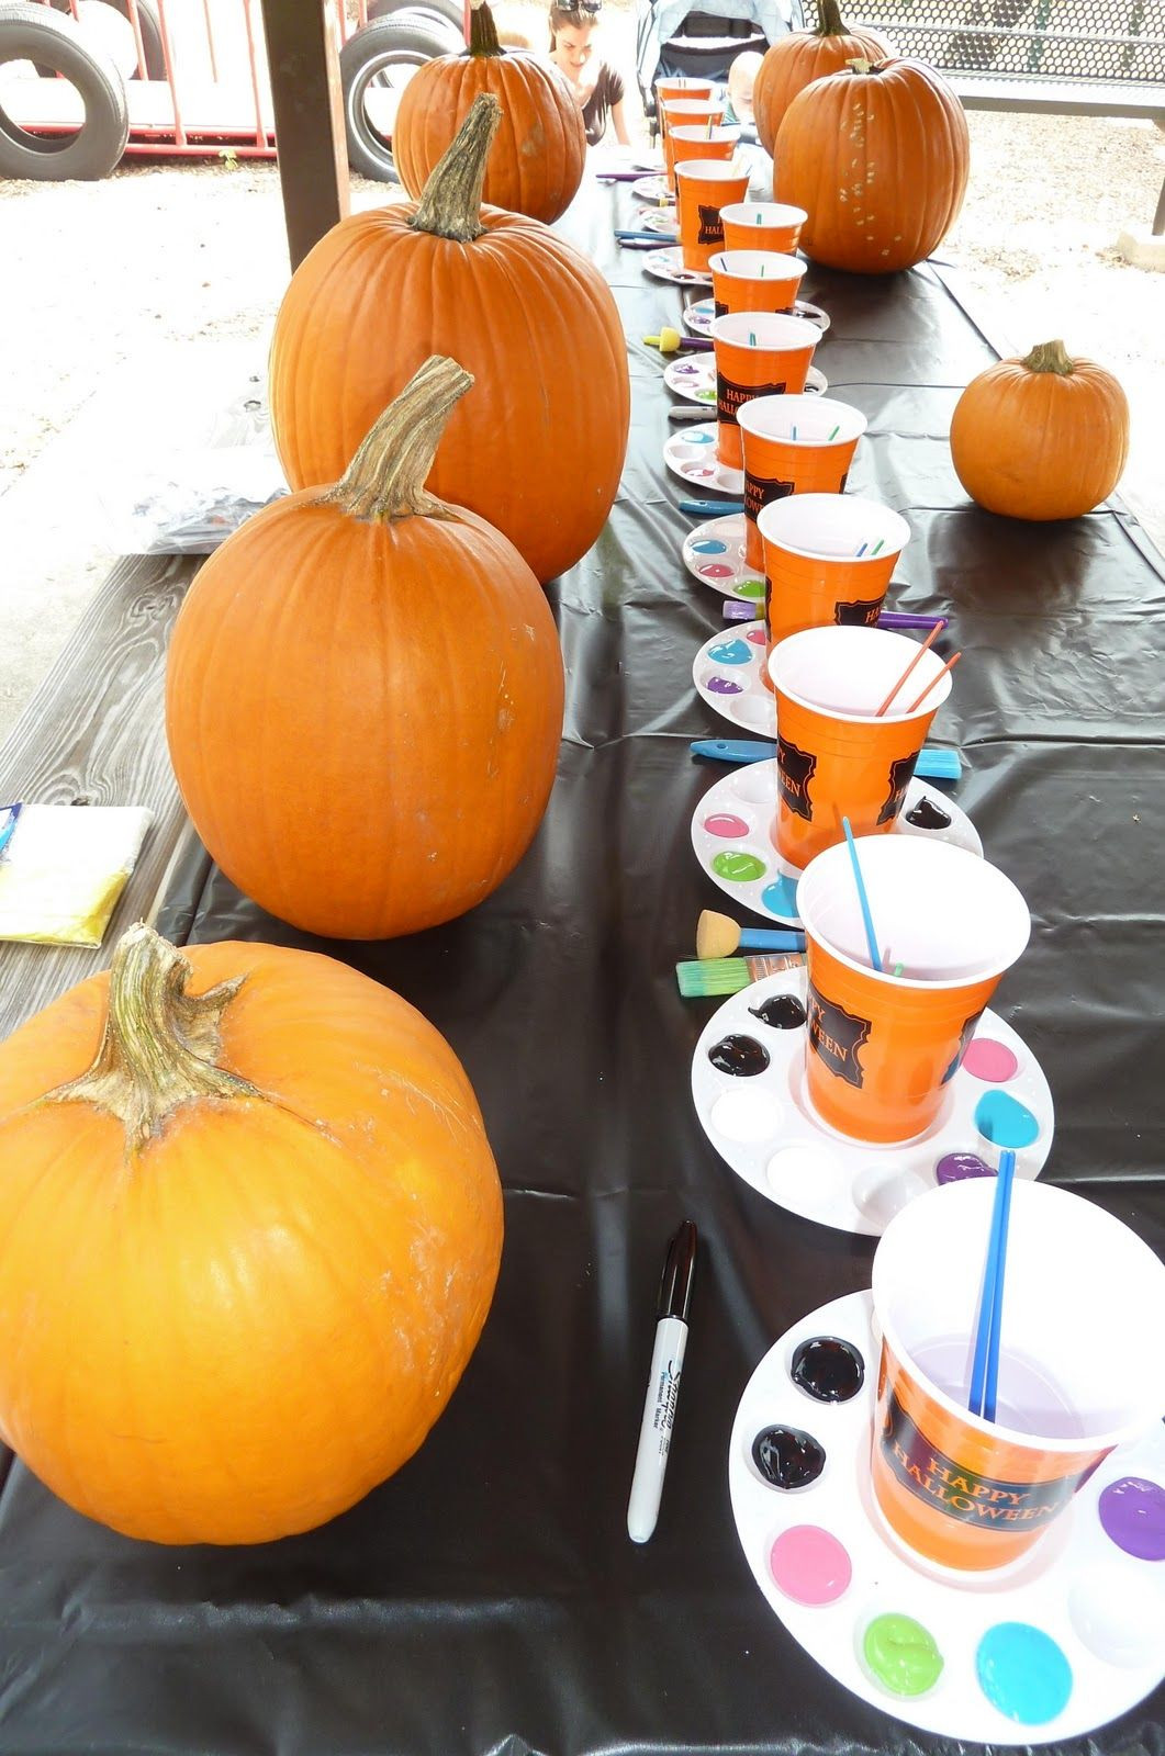
[[[912,658],[903,687],[877,715]],[[807,629],[773,648],[777,690],[777,818],[773,841],[791,866],[808,866],[843,839],[898,824],[931,720],[951,694],[935,651],[887,629]],[[928,683],[919,708],[910,704]]]

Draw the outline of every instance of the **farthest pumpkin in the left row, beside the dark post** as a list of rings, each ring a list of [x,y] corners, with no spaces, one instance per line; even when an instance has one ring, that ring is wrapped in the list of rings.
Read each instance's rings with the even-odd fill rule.
[[[587,130],[566,79],[531,54],[506,54],[485,0],[471,0],[469,47],[413,74],[392,128],[392,158],[409,195],[420,195],[480,91],[503,107],[481,198],[545,220],[578,193]]]

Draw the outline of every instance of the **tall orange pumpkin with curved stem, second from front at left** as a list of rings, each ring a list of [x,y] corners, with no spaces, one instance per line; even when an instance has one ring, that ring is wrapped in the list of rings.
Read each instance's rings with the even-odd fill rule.
[[[336,488],[276,500],[211,555],[174,625],[186,810],[227,876],[308,932],[381,939],[473,908],[554,783],[546,599],[501,532],[422,488],[469,383],[429,362]]]

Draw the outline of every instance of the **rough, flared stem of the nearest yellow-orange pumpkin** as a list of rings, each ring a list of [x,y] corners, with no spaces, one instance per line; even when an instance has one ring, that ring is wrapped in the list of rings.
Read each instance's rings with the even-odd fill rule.
[[[165,1119],[195,1098],[258,1098],[255,1085],[218,1066],[221,1018],[244,978],[188,994],[193,975],[177,946],[144,920],[123,932],[109,971],[105,1034],[88,1073],[44,1103],[90,1103],[125,1127],[139,1152]]]

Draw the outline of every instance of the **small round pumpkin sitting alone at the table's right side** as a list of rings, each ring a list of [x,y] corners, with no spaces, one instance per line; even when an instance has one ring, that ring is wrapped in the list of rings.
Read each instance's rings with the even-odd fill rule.
[[[1128,399],[1091,360],[1046,341],[973,378],[954,407],[951,458],[972,500],[1007,518],[1079,518],[1121,479]]]

